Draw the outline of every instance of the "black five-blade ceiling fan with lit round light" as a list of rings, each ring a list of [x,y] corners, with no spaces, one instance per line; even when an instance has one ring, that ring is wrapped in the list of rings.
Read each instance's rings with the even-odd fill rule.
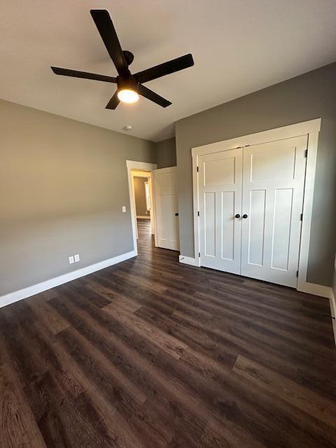
[[[92,9],[90,13],[100,36],[102,36],[106,49],[116,66],[118,76],[114,78],[113,76],[104,76],[96,73],[88,73],[86,71],[61,69],[54,66],[51,67],[52,71],[57,75],[74,76],[75,78],[94,79],[105,81],[106,83],[117,84],[117,91],[110,99],[106,109],[116,109],[120,101],[134,103],[139,99],[139,94],[162,107],[167,107],[172,104],[167,99],[162,98],[160,95],[153,92],[153,90],[145,87],[143,83],[168,75],[169,73],[174,73],[174,71],[183,70],[193,66],[193,56],[188,54],[177,57],[176,59],[172,59],[172,61],[164,62],[151,69],[139,71],[132,75],[129,66],[133,62],[134,55],[132,55],[130,51],[121,49],[116,29],[113,26],[109,12],[104,9]]]

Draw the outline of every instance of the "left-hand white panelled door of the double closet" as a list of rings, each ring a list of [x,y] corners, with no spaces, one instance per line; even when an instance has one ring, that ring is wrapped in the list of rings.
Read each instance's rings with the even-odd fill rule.
[[[241,260],[242,153],[201,155],[198,163],[201,266],[234,274]]]

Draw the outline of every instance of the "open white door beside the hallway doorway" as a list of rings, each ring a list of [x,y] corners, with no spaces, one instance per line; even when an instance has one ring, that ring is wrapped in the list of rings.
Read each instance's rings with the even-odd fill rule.
[[[179,251],[179,203],[176,167],[153,171],[156,245]]]

